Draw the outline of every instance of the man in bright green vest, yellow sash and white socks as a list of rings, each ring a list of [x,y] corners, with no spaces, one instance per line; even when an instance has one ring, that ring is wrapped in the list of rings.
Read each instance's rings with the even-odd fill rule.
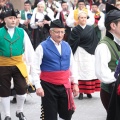
[[[16,117],[26,120],[23,105],[26,98],[27,70],[24,63],[31,66],[34,50],[27,33],[16,27],[16,13],[13,9],[4,10],[5,26],[0,28],[0,97],[5,112],[4,120],[11,120],[10,95],[11,78],[17,93]],[[23,56],[24,54],[24,56]]]

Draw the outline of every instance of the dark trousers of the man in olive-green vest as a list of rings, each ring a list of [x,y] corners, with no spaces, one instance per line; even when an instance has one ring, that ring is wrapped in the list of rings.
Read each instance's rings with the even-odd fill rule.
[[[101,98],[102,104],[103,104],[104,108],[106,109],[106,111],[108,111],[110,97],[111,97],[110,93],[108,93],[108,92],[104,91],[103,89],[101,89],[100,98]]]

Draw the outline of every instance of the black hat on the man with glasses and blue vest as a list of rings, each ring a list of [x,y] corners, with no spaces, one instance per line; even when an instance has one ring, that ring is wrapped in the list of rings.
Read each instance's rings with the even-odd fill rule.
[[[59,19],[51,21],[50,28],[65,28],[63,22]]]

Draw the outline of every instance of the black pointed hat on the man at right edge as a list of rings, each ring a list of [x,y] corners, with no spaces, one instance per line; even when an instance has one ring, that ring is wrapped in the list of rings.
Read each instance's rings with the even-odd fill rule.
[[[107,8],[108,6],[109,8]],[[120,10],[110,4],[106,4],[106,12],[105,26],[120,18]]]

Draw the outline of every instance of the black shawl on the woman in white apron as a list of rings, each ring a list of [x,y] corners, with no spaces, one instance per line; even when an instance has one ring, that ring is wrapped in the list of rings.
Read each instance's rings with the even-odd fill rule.
[[[73,54],[78,46],[84,48],[88,53],[94,54],[98,42],[94,27],[88,25],[84,29],[80,25],[74,27],[69,38]]]

